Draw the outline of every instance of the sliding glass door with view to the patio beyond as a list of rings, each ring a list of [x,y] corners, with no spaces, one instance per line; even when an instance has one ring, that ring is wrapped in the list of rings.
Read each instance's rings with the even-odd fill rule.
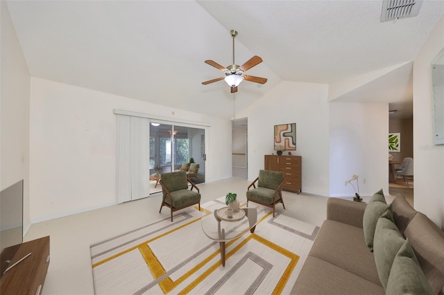
[[[205,129],[150,123],[150,194],[162,190],[158,184],[162,173],[178,170],[182,163],[194,162],[197,168],[189,175],[195,184],[205,182]]]

